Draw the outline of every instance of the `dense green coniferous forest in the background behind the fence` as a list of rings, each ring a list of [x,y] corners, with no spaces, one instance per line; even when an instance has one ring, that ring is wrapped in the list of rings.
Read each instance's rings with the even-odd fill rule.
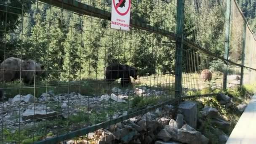
[[[23,7],[22,2],[25,2]],[[111,11],[111,3],[106,0],[80,2]],[[2,10],[6,8],[4,3],[1,2]],[[196,2],[194,5],[188,4],[186,8],[191,12],[185,16],[184,36],[221,56],[224,53],[224,11],[218,3],[211,0],[201,5]],[[43,63],[49,80],[104,78],[104,68],[111,63],[137,67],[140,69],[139,75],[175,70],[175,42],[163,35],[136,28],[131,28],[129,32],[117,31],[110,28],[110,21],[79,15],[34,0],[9,0],[7,4],[10,6],[8,11],[19,15],[0,14],[0,60],[3,61],[4,55],[5,58],[22,56],[22,59]],[[208,13],[202,13],[204,9]],[[200,20],[195,21],[195,13],[198,12],[200,16],[197,19]],[[176,1],[134,0],[131,17],[175,33]],[[191,55],[197,53],[196,50],[189,51]],[[203,64],[202,60],[193,59],[193,56],[184,57],[187,57],[186,61],[191,59],[202,63],[198,70],[208,65]],[[190,68],[186,67],[184,65],[184,70],[189,72]]]

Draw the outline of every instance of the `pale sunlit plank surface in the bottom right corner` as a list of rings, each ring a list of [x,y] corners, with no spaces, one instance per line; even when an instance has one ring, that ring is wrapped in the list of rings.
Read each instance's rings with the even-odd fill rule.
[[[241,115],[226,144],[256,144],[256,95]]]

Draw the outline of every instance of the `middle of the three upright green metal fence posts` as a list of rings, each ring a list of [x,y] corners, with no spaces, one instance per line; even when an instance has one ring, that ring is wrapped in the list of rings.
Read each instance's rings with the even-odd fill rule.
[[[224,59],[229,58],[229,29],[230,29],[230,1],[226,0],[227,10],[226,10],[226,20],[225,20],[225,53],[224,53]],[[224,68],[224,75],[223,75],[223,89],[227,88],[227,69],[228,69],[228,63],[226,67]]]

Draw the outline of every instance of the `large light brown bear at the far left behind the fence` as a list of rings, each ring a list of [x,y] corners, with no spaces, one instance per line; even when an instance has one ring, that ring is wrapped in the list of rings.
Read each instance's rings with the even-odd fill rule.
[[[5,59],[0,65],[0,82],[11,82],[19,80],[20,77],[26,85],[34,83],[35,75],[43,74],[44,66],[37,64],[33,60],[21,60],[19,58],[10,57]]]

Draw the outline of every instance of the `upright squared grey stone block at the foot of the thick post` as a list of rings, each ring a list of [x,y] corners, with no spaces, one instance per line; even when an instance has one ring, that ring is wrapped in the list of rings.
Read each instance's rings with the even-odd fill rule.
[[[184,101],[179,104],[179,110],[184,115],[184,120],[192,128],[197,127],[197,103],[193,101]]]

